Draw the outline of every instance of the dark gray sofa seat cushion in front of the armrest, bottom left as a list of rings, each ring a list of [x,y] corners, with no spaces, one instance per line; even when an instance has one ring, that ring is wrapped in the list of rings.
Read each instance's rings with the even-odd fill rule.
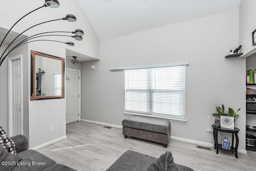
[[[52,159],[31,149],[22,151],[17,156],[22,157],[22,160],[19,165],[14,167],[13,171],[42,171],[56,164]]]

